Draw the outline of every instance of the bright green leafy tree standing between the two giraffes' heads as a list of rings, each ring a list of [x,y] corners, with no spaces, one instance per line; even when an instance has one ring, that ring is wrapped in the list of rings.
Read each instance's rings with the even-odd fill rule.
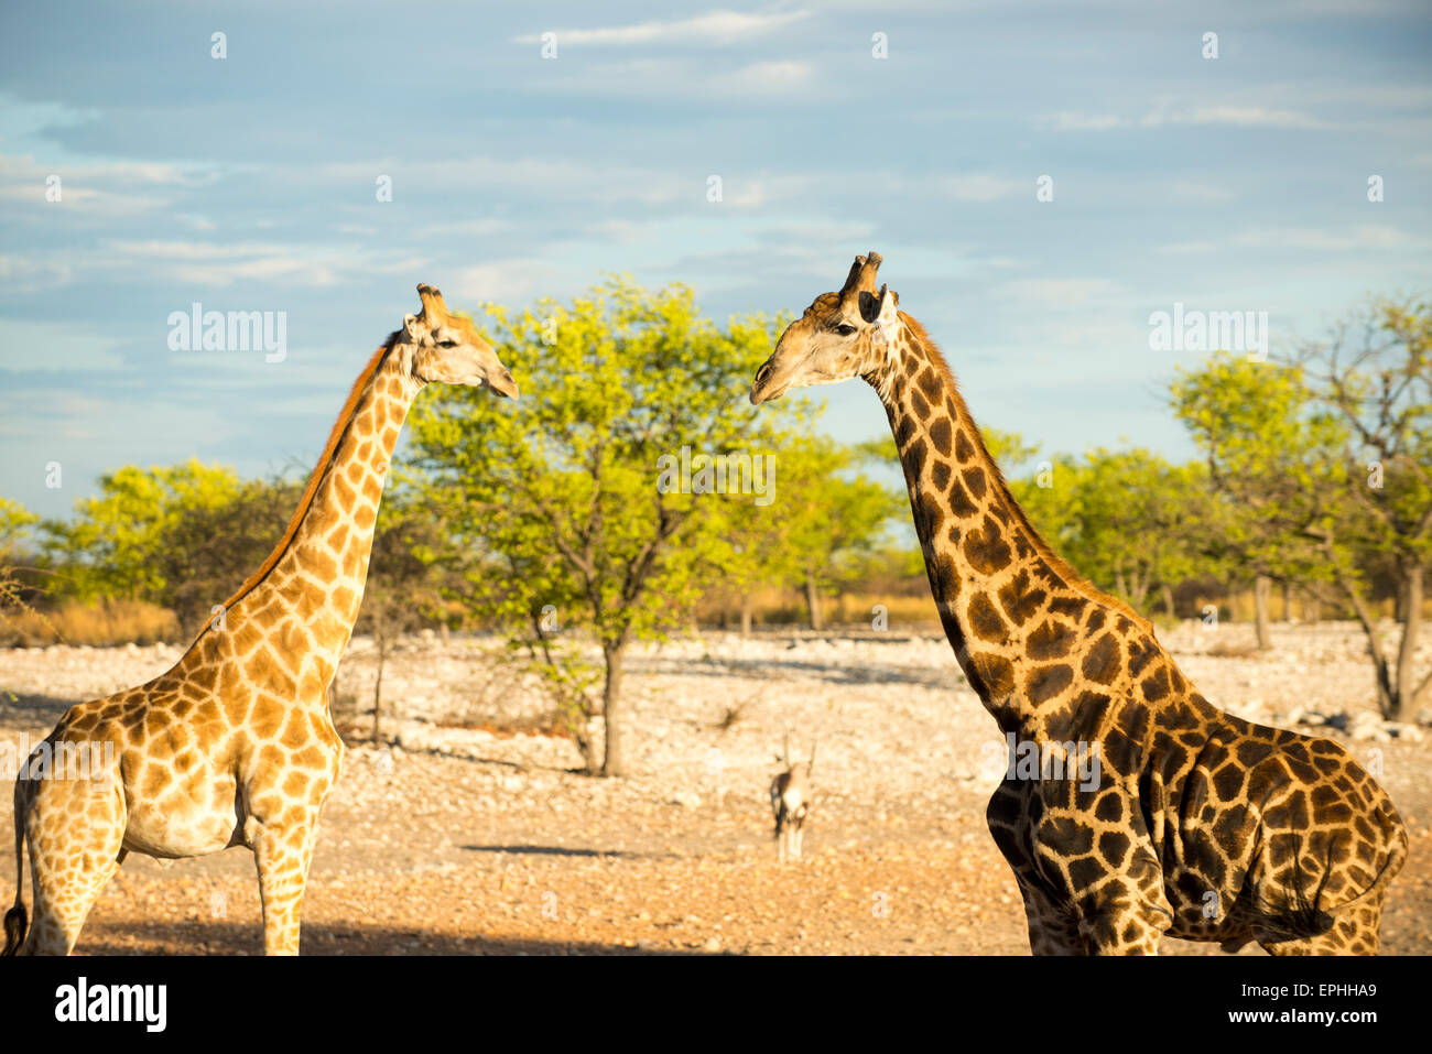
[[[465,599],[475,614],[514,633],[546,617],[554,632],[596,639],[601,773],[626,775],[627,647],[686,626],[716,561],[725,517],[707,510],[729,498],[689,493],[710,481],[696,458],[759,455],[783,440],[780,417],[746,400],[779,322],[733,318],[722,329],[684,286],[647,292],[627,278],[567,305],[488,315],[521,400],[465,390],[420,398],[417,485],[483,556],[474,573],[504,573]]]

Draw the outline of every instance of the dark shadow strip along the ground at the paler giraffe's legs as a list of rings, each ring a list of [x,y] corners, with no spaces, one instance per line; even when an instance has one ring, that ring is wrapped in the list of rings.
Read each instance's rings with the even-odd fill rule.
[[[90,924],[79,955],[258,955],[263,934],[238,922]],[[432,934],[411,927],[355,927],[305,922],[302,955],[703,955],[697,949],[653,952],[603,941],[541,941],[474,934]],[[713,952],[705,952],[713,955]]]

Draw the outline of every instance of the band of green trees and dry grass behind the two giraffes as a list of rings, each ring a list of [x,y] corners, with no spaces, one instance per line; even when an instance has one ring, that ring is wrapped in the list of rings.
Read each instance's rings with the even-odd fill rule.
[[[785,319],[706,318],[689,289],[610,279],[487,308],[523,398],[434,388],[410,418],[359,633],[497,633],[593,772],[620,775],[634,642],[720,624],[932,622],[888,437],[746,392]],[[1432,563],[1432,305],[1373,301],[1283,357],[1219,352],[1169,391],[1199,457],[987,440],[1084,574],[1164,619],[1353,619],[1388,717],[1416,669]],[[978,407],[977,407],[978,412]],[[296,474],[186,461],[103,475],[64,520],[0,498],[0,643],[182,640],[282,534]],[[1396,623],[1390,632],[1388,620]],[[381,669],[381,666],[379,666]],[[371,735],[382,738],[381,673]],[[594,732],[600,729],[600,735]]]

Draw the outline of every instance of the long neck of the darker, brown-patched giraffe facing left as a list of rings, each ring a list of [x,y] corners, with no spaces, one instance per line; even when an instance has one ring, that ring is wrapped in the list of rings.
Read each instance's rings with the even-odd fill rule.
[[[914,319],[901,321],[885,367],[866,379],[895,435],[939,619],[1001,730],[1042,738],[1040,705],[1071,679],[1054,660],[1085,634],[1090,606],[1107,609],[1100,624],[1124,616],[1090,596],[1030,526],[939,351]]]

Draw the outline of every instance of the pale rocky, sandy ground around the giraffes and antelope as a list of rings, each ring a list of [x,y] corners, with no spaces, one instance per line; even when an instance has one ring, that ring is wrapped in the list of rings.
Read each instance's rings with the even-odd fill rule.
[[[1412,832],[1383,947],[1432,952],[1432,735],[1378,720],[1360,634],[1280,626],[1267,654],[1247,649],[1246,627],[1160,636],[1214,703],[1337,738],[1380,766]],[[621,780],[573,772],[571,740],[507,732],[541,725],[541,703],[493,675],[491,647],[418,637],[390,662],[390,745],[348,753],[314,861],[305,952],[1028,952],[1014,879],[984,826],[1002,745],[938,630],[709,633],[647,647],[629,660],[633,775]],[[0,653],[0,746],[43,736],[70,703],[147,680],[178,654]],[[374,667],[372,644],[354,642],[344,690],[369,699]],[[766,788],[788,733],[799,755],[819,738],[818,798],[806,861],[780,866]],[[0,845],[11,831],[6,805]],[[6,865],[4,904],[10,882]],[[132,855],[80,951],[261,945],[252,856],[231,849],[165,866]],[[1164,951],[1219,954],[1173,939]]]

